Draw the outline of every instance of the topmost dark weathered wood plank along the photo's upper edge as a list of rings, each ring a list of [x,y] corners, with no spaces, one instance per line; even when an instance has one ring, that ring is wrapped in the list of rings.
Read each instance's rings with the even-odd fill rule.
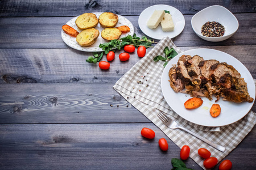
[[[0,17],[14,16],[76,16],[85,12],[114,12],[120,15],[139,15],[157,1],[3,1],[0,3]],[[170,5],[183,14],[195,14],[203,8],[221,5],[232,12],[255,12],[255,1],[161,1],[160,4]],[[126,6],[126,10],[123,9]]]

